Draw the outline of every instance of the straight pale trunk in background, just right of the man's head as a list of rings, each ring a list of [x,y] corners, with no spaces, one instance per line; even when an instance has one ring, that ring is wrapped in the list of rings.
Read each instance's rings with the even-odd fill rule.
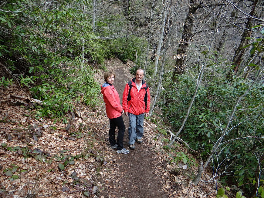
[[[158,45],[157,45],[157,50],[156,50],[156,57],[155,57],[155,62],[154,62],[154,72],[153,72],[153,76],[152,78],[154,78],[157,75],[157,67],[158,67],[158,62],[159,62],[159,56],[160,56],[160,51],[161,51],[161,44],[163,41],[163,35],[164,35],[164,27],[165,27],[165,20],[166,20],[166,4],[167,1],[165,0],[164,2],[164,7],[163,7],[163,18],[162,18],[162,23],[161,23],[161,30],[160,30],[160,35],[159,35],[159,41],[158,41]]]

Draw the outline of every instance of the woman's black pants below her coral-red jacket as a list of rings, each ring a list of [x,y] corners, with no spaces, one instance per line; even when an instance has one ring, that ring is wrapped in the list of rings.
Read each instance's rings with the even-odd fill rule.
[[[121,150],[124,148],[123,139],[125,134],[125,124],[123,117],[120,116],[118,118],[109,119],[110,121],[110,129],[109,129],[109,142],[111,146],[117,144],[117,150]],[[115,129],[118,127],[117,141],[115,140]]]

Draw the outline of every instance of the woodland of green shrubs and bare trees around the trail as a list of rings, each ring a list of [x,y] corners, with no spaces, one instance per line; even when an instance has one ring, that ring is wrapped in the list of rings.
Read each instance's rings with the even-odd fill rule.
[[[17,84],[41,101],[28,116],[68,123],[75,102],[100,103],[95,68],[118,57],[131,73],[144,69],[149,119],[172,128],[158,128],[174,137],[164,149],[181,141],[200,160],[194,184],[209,169],[210,181],[263,198],[263,8],[261,0],[1,1],[1,90]],[[169,163],[180,161],[191,166],[177,152]]]

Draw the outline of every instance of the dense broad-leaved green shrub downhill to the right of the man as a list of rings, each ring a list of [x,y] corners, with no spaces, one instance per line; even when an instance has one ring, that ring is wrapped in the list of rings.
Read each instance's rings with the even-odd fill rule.
[[[208,74],[207,74],[208,75]],[[209,76],[209,75],[208,75]],[[248,88],[248,81],[235,79],[229,83],[225,79],[204,79],[206,84],[198,89],[195,102],[181,132],[181,138],[193,149],[200,150],[207,159],[213,146],[222,135],[229,115],[239,96]],[[166,88],[169,104],[160,102],[164,116],[168,118],[175,131],[179,129],[195,90],[196,80],[187,75],[178,76],[178,83]],[[263,98],[261,83],[255,83],[237,107],[228,133],[214,156],[215,171],[225,176],[232,174],[235,184],[250,192],[250,178],[255,177],[258,156],[264,152],[263,139]],[[263,180],[264,176],[261,175]]]

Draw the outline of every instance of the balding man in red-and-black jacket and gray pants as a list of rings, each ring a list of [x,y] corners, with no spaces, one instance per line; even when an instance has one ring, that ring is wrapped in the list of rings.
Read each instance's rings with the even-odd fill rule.
[[[147,83],[143,80],[144,71],[138,69],[136,77],[127,82],[123,93],[123,109],[129,117],[129,142],[130,149],[135,149],[135,141],[141,144],[143,136],[144,114],[147,117],[150,107],[150,94]]]

